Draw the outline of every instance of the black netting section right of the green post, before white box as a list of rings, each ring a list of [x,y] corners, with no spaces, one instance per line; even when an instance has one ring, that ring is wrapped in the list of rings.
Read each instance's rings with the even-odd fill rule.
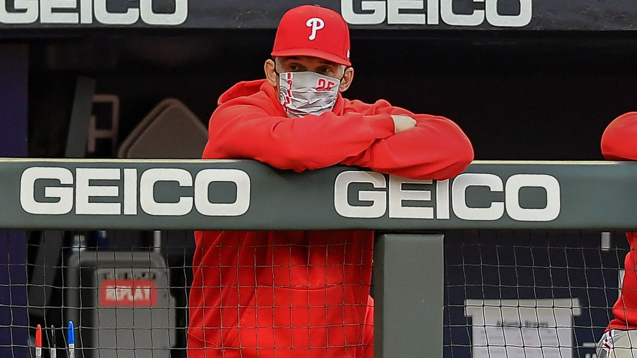
[[[624,233],[445,236],[445,358],[592,358],[619,295]]]

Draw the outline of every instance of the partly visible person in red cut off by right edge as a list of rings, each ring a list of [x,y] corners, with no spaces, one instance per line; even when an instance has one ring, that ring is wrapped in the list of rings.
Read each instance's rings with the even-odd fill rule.
[[[601,137],[601,151],[610,161],[637,161],[637,112],[620,115]],[[637,358],[637,233],[626,233],[630,250],[624,260],[622,290],[598,343],[598,358]],[[634,347],[634,348],[633,348]]]

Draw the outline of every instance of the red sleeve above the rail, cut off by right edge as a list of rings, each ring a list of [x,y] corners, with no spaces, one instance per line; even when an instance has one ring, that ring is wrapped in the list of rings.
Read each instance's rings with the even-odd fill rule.
[[[601,136],[601,152],[611,161],[637,161],[637,112],[629,112],[608,124]]]

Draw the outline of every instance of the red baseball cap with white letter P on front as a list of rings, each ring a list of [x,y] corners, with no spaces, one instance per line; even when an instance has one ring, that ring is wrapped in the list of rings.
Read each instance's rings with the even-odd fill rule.
[[[288,10],[276,29],[272,55],[311,56],[352,66],[347,22],[336,11],[320,6]]]

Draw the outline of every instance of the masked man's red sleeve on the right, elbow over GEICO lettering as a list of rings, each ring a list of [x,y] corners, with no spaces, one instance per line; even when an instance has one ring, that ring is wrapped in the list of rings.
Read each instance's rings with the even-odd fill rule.
[[[408,115],[416,120],[416,127],[375,141],[368,150],[343,164],[413,179],[447,179],[462,173],[473,161],[469,138],[451,120],[415,115],[385,104],[376,112]]]

